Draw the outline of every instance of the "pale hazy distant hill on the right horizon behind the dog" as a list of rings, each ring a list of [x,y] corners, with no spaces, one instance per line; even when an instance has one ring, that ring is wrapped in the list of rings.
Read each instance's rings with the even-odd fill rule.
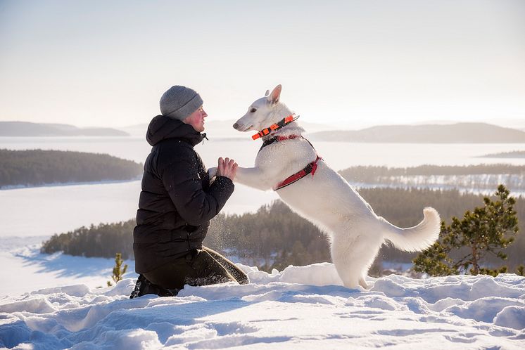
[[[370,143],[525,143],[525,132],[485,123],[386,125],[358,131],[320,131],[310,141]]]

